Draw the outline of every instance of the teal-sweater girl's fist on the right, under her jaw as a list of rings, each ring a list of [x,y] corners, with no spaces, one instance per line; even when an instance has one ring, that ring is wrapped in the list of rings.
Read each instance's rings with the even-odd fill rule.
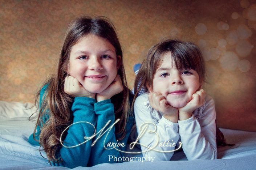
[[[121,93],[123,91],[123,84],[120,76],[116,76],[114,81],[101,93],[96,95],[97,102],[110,99],[113,95]]]

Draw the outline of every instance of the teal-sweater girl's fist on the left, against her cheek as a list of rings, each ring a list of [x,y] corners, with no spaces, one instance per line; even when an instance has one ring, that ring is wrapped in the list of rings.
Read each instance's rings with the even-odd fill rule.
[[[64,92],[73,97],[95,97],[95,94],[88,92],[84,86],[82,86],[81,83],[72,76],[65,78]]]

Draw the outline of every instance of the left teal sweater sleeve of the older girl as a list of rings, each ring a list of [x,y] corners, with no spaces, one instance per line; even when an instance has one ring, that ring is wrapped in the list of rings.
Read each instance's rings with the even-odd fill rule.
[[[69,127],[63,144],[65,146],[75,147],[66,148],[61,146],[56,152],[56,157],[61,157],[63,161],[61,163],[52,162],[54,166],[74,168],[88,165],[92,139],[88,140],[85,137],[91,137],[95,133],[96,115],[94,112],[94,103],[95,99],[92,98],[74,98],[71,108],[74,116],[73,124]]]

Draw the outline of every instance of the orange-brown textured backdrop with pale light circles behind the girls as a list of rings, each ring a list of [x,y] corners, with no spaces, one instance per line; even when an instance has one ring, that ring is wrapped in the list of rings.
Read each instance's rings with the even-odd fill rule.
[[[82,15],[113,21],[129,87],[133,65],[165,38],[198,44],[218,126],[256,131],[256,2],[0,0],[0,100],[33,102],[56,64],[66,28]]]

